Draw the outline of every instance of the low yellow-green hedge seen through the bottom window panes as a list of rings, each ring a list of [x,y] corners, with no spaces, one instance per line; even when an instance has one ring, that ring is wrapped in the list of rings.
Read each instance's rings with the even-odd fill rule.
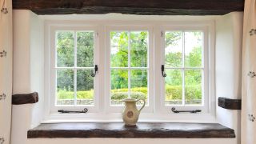
[[[120,100],[128,98],[127,89],[118,89],[111,90],[111,99]],[[88,91],[78,91],[78,99],[93,99],[94,90]],[[186,100],[190,101],[192,99],[201,99],[202,98],[202,89],[201,85],[186,86],[185,89]],[[132,88],[130,92],[131,98],[147,98],[147,88],[146,87],[137,87]],[[59,90],[58,99],[73,99],[74,92]],[[166,86],[166,100],[181,100],[182,99],[182,86]]]

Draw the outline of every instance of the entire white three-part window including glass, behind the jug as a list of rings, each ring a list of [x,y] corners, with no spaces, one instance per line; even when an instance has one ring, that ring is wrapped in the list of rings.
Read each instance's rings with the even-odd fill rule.
[[[145,121],[214,119],[212,22],[85,23],[46,23],[47,118],[87,108],[65,118],[120,120],[122,100],[137,98]]]

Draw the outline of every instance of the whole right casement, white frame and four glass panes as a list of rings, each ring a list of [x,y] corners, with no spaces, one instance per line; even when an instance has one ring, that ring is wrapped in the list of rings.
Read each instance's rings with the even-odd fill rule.
[[[204,26],[162,27],[162,106],[209,112],[209,34]]]

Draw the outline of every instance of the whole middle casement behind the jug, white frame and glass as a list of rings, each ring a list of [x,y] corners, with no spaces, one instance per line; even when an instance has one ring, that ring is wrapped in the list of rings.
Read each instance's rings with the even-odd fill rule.
[[[145,99],[153,111],[153,32],[150,26],[106,27],[107,109],[120,112],[125,98]],[[142,105],[138,102],[138,106]]]

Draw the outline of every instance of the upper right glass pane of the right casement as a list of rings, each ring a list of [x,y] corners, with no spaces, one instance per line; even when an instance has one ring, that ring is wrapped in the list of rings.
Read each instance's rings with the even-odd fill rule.
[[[185,32],[185,66],[202,66],[202,35],[200,31]]]

